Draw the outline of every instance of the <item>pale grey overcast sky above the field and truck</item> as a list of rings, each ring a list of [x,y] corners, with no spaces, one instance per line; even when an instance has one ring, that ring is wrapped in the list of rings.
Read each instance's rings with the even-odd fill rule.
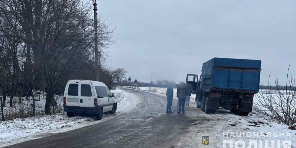
[[[260,84],[269,72],[284,84],[289,63],[296,77],[295,0],[100,0],[116,44],[111,67],[127,78],[185,81],[213,57],[259,59]],[[274,85],[274,79],[272,79]]]

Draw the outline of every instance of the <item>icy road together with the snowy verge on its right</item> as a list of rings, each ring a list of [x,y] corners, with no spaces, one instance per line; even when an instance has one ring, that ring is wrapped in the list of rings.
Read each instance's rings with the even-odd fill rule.
[[[205,114],[197,109],[191,101],[185,114],[177,114],[177,98],[174,97],[173,114],[166,114],[166,96],[127,88],[121,88],[136,96],[136,107],[128,113],[122,113],[116,118],[86,126],[83,128],[45,135],[46,137],[26,141],[9,147],[14,148],[64,148],[64,147],[198,147],[199,133],[214,133],[215,147],[223,147],[223,140],[243,140],[248,146],[250,140],[291,140],[292,148],[296,148],[295,131],[287,126],[272,122],[257,114],[241,117],[231,114],[228,110],[219,109],[216,114]],[[263,121],[259,126],[249,126],[250,121]],[[289,132],[290,137],[225,137],[223,132]],[[231,135],[229,135],[231,136]],[[235,135],[236,136],[236,135]],[[212,137],[213,138],[213,137]],[[229,146],[228,146],[229,147]]]

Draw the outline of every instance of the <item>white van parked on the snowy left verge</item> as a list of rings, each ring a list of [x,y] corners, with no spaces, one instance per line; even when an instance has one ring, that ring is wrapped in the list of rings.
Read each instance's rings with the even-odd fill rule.
[[[75,113],[89,113],[101,120],[104,112],[114,114],[117,109],[114,94],[98,81],[69,80],[64,93],[64,111],[68,117]]]

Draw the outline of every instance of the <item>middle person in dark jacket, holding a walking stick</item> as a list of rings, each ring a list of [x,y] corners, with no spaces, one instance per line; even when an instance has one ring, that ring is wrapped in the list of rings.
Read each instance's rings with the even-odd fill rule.
[[[179,108],[178,108],[178,114],[181,113],[181,106],[182,106],[182,112],[183,114],[185,113],[185,99],[186,99],[186,87],[185,87],[185,83],[184,82],[180,82],[179,86],[177,88],[177,97],[178,97],[178,104],[179,104]]]

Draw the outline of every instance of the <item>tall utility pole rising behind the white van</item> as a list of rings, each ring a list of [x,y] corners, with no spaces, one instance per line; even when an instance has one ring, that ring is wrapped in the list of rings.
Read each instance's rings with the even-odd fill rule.
[[[99,55],[98,55],[98,29],[97,29],[97,13],[96,11],[98,9],[96,9],[96,0],[93,0],[94,2],[94,54],[95,54],[95,66],[98,69],[98,71],[96,72],[96,81],[99,81]]]

